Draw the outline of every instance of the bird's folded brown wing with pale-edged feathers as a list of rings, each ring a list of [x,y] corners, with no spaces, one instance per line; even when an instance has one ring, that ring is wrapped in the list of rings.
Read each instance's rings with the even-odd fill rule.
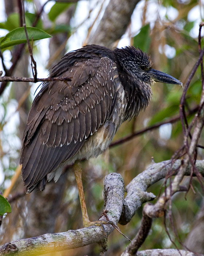
[[[36,96],[23,136],[20,163],[27,191],[43,190],[47,174],[71,159],[112,115],[116,64],[108,57],[75,62],[71,82],[45,84]]]

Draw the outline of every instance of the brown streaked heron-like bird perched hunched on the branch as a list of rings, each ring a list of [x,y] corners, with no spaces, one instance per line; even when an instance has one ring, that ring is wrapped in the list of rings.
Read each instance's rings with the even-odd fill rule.
[[[43,191],[74,163],[84,226],[90,226],[79,162],[105,151],[120,125],[146,109],[155,82],[182,83],[154,69],[134,46],[83,46],[65,54],[49,77],[71,81],[44,82],[32,103],[20,151],[24,186],[26,193]]]

